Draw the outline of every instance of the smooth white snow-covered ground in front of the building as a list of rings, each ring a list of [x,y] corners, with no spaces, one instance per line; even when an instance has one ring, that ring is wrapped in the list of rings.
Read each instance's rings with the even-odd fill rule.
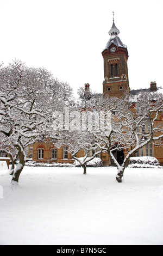
[[[163,245],[163,169],[0,169],[1,245]]]

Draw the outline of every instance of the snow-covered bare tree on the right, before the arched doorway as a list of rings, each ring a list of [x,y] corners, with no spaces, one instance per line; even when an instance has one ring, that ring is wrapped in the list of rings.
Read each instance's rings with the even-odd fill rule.
[[[106,100],[111,102],[109,98]],[[141,93],[136,102],[130,101],[129,95],[124,99],[118,99],[114,108],[110,105],[112,111],[110,131],[94,133],[96,145],[106,151],[117,166],[118,182],[122,182],[124,169],[131,156],[149,143],[161,143],[162,102],[162,94],[157,93]],[[122,163],[119,163],[113,154],[115,150],[126,150]]]

